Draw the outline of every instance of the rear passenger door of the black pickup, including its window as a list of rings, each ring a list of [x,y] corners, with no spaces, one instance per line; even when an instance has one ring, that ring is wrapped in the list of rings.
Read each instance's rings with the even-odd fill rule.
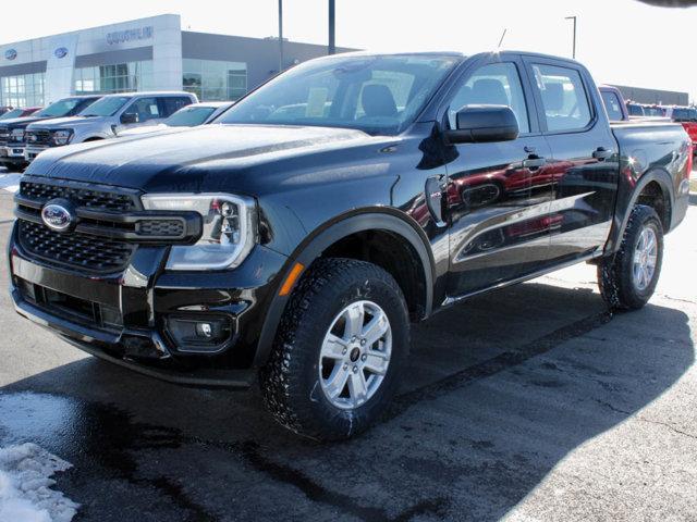
[[[563,262],[600,253],[612,224],[619,162],[598,89],[575,62],[524,61],[552,152],[551,256]]]

